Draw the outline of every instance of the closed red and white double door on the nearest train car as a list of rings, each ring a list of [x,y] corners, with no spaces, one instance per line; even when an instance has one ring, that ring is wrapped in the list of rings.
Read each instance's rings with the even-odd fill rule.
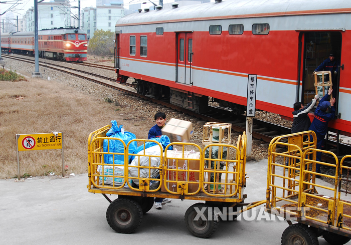
[[[179,33],[177,41],[177,82],[193,85],[193,33]]]

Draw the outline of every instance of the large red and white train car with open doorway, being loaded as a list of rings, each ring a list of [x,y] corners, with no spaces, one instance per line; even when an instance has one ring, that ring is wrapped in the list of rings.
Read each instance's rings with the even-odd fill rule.
[[[335,50],[339,118],[351,134],[351,1],[228,0],[173,4],[116,23],[117,81],[133,77],[139,93],[201,111],[207,97],[241,113],[248,74],[257,74],[256,108],[292,117],[314,96],[314,69]],[[161,92],[160,92],[161,91]]]

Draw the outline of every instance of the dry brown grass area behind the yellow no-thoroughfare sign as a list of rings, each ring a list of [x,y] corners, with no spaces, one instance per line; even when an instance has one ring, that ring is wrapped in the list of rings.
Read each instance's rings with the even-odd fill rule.
[[[117,114],[115,109],[114,104],[103,99],[53,81],[0,81],[0,178],[17,176],[16,134],[64,132],[68,174],[87,172],[89,133],[113,119],[118,124],[125,123],[126,131],[143,132],[137,137],[147,137],[147,130],[153,125],[151,120],[142,126],[128,126],[130,121],[123,121],[118,115],[130,115],[130,111],[120,108]],[[20,165],[22,176],[61,174],[61,150],[21,151]]]

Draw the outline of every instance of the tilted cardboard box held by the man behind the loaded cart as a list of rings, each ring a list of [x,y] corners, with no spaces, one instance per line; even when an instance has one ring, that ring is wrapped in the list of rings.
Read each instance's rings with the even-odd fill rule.
[[[193,135],[193,123],[171,118],[161,129],[170,142],[188,142]]]

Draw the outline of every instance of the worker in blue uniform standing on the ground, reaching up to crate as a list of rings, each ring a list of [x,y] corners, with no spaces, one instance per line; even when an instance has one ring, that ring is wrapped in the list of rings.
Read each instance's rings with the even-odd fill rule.
[[[326,94],[320,101],[317,108],[314,111],[314,118],[309,127],[316,133],[317,136],[317,149],[322,149],[325,134],[328,130],[328,122],[334,119],[335,116],[335,98],[327,101],[329,95],[332,93],[332,89],[329,88],[328,94]],[[317,152],[316,160],[321,161],[321,152]],[[316,164],[316,172],[320,173],[320,164]]]

